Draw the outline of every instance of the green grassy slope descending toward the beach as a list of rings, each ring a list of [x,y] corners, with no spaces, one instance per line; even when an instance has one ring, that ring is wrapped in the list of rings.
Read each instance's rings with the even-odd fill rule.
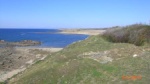
[[[84,52],[106,52],[112,62],[102,64],[82,57]],[[137,54],[137,57],[133,57]],[[137,47],[127,43],[110,43],[100,36],[74,43],[44,61],[39,61],[11,84],[118,84],[150,82],[150,46]],[[142,76],[141,80],[122,80],[122,76]]]

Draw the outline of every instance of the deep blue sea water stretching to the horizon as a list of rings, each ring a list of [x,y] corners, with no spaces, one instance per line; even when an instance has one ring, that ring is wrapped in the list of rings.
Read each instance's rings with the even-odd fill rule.
[[[66,47],[67,45],[84,40],[88,35],[58,34],[57,29],[0,29],[0,40],[17,42],[35,40],[42,44],[38,47]]]

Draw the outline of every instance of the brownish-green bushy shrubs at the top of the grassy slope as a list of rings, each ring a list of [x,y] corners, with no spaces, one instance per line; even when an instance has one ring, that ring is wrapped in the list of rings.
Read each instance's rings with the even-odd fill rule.
[[[137,46],[150,43],[150,25],[134,24],[124,28],[112,28],[103,35],[108,41],[132,43]]]

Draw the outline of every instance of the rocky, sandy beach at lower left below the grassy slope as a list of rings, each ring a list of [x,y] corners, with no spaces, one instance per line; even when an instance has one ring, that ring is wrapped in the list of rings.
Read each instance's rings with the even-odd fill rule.
[[[0,48],[0,82],[24,71],[39,60],[62,48],[5,47]]]

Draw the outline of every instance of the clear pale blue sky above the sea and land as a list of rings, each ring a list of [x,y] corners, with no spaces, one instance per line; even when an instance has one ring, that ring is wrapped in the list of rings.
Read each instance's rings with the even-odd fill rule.
[[[0,28],[104,28],[150,23],[150,0],[0,0]]]

